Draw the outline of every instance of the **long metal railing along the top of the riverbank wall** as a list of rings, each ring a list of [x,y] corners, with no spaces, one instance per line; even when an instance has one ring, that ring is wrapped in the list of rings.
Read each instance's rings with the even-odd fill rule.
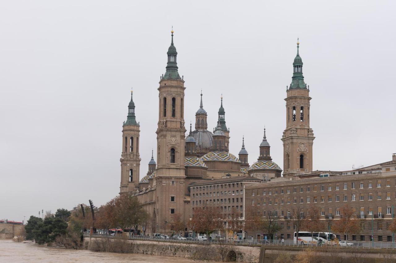
[[[89,233],[84,233],[84,237],[91,237]],[[329,246],[339,246],[340,248],[345,249],[367,249],[367,248],[374,248],[374,249],[396,249],[395,242],[385,242],[385,241],[332,241],[329,244],[324,244],[317,242],[316,240],[307,240],[307,241],[299,241],[295,243],[293,240],[286,239],[204,239],[198,240],[193,237],[187,238],[173,238],[173,237],[155,237],[155,236],[145,236],[145,235],[123,235],[123,234],[99,234],[93,233],[92,237],[105,237],[105,238],[121,238],[127,237],[131,240],[153,240],[153,241],[161,241],[161,242],[182,242],[182,243],[198,243],[198,244],[233,244],[233,245],[245,245],[245,246],[289,246],[289,247],[300,247],[305,248],[308,246],[312,247],[329,247]]]

